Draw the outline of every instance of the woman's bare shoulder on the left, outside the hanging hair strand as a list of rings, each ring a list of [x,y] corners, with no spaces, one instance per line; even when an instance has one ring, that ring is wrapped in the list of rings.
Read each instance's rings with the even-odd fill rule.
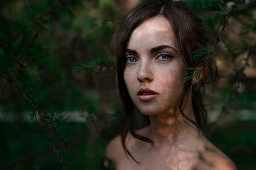
[[[120,156],[124,155],[124,150],[121,142],[121,136],[116,136],[106,147],[105,155],[113,162],[117,161]]]

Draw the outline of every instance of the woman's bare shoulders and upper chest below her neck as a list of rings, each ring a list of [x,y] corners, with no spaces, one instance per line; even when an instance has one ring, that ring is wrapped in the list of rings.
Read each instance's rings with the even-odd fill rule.
[[[150,127],[139,131],[150,131]],[[137,164],[127,158],[118,136],[109,142],[106,156],[113,161],[116,170],[236,170],[235,164],[204,137],[184,140],[151,147],[128,136],[127,147],[139,161]]]

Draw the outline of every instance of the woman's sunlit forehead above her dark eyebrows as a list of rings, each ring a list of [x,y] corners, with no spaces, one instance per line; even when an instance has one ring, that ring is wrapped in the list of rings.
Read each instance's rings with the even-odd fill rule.
[[[129,38],[127,48],[151,49],[159,45],[171,45],[178,50],[178,41],[173,25],[163,16],[152,17],[135,28]]]

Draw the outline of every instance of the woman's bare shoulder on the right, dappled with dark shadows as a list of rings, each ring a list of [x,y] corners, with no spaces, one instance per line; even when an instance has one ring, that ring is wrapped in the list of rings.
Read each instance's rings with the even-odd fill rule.
[[[237,170],[234,162],[208,140],[205,143],[205,149],[201,154],[201,161],[198,165],[207,167],[205,169],[209,170]]]

